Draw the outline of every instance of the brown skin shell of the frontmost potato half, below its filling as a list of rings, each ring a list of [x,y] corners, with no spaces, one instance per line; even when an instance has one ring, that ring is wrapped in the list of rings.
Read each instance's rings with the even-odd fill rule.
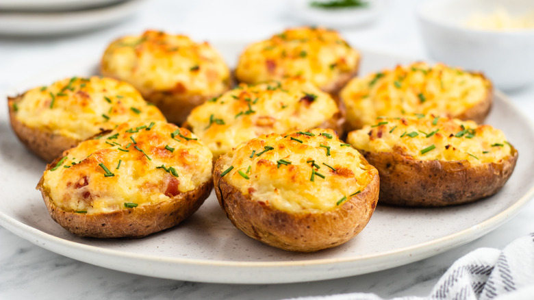
[[[272,247],[288,251],[313,252],[351,240],[367,225],[379,195],[379,177],[339,208],[322,213],[292,214],[251,200],[220,177],[227,155],[214,169],[215,192],[220,207],[231,223],[244,234]]]

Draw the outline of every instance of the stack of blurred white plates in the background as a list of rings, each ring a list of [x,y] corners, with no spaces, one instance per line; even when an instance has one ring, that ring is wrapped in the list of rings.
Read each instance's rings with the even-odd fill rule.
[[[107,27],[138,11],[144,0],[3,0],[0,34],[51,36]]]

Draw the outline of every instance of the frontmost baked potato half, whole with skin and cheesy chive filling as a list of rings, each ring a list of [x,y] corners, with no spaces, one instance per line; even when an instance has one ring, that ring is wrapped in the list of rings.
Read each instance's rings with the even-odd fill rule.
[[[347,242],[377,204],[379,176],[331,129],[268,134],[222,155],[217,199],[246,235],[288,251]]]

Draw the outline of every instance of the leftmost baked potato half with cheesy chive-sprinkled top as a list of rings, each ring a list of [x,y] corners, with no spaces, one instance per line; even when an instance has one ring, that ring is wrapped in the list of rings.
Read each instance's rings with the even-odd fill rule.
[[[131,85],[105,77],[72,77],[8,98],[18,139],[51,162],[82,140],[129,120],[164,121]]]

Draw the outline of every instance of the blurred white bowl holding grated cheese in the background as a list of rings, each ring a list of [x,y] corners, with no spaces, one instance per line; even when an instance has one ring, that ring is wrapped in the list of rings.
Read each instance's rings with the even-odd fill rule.
[[[463,23],[475,13],[534,10],[532,0],[432,0],[420,5],[422,39],[435,60],[481,71],[503,90],[534,83],[534,29],[490,31]]]

